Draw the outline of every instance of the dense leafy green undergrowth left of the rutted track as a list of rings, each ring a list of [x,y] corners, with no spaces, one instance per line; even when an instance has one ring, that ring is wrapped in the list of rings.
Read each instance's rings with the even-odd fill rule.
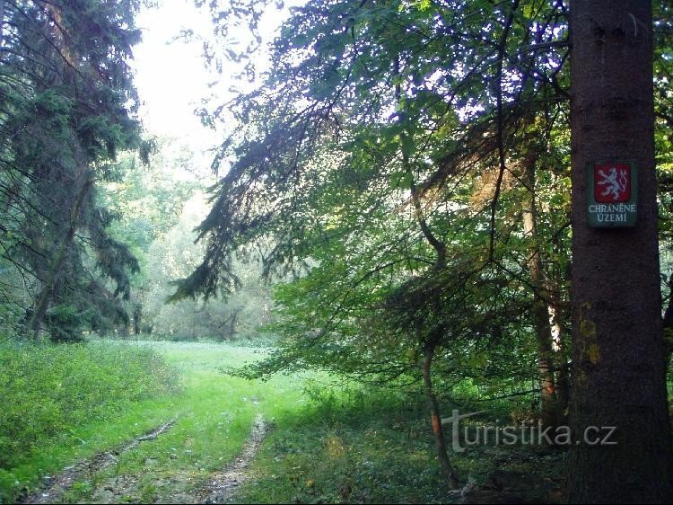
[[[0,344],[0,500],[118,441],[110,420],[137,419],[130,431],[146,429],[137,404],[169,397],[176,386],[173,371],[144,347]]]

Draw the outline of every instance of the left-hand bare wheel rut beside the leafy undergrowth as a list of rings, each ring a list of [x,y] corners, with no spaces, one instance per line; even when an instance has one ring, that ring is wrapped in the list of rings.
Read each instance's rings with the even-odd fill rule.
[[[66,467],[60,474],[57,474],[54,477],[47,477],[45,479],[45,487],[19,499],[17,503],[53,503],[58,501],[59,497],[64,492],[72,488],[73,484],[81,480],[84,476],[98,472],[109,465],[113,465],[117,462],[117,458],[120,454],[138,447],[141,442],[156,439],[165,431],[170,430],[175,424],[175,421],[176,420],[174,419],[168,421],[161,426],[157,426],[153,430],[144,432],[143,435],[136,437],[120,447],[101,452],[92,456],[90,459]]]

